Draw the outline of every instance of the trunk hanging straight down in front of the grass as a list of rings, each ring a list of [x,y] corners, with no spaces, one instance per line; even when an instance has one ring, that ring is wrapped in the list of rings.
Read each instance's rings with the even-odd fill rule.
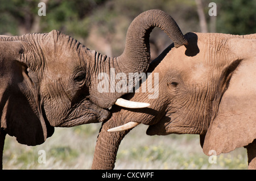
[[[93,170],[112,170],[115,166],[118,147],[125,135],[131,130],[122,132],[108,132],[109,128],[117,121],[113,117],[102,123],[100,133],[98,134],[96,148],[94,151],[92,169]],[[121,123],[119,123],[121,124]]]

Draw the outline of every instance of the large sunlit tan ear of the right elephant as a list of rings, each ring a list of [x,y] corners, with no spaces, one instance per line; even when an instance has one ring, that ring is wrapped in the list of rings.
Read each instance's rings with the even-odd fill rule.
[[[210,123],[203,151],[228,153],[256,138],[256,58],[242,60],[233,71],[217,116]]]

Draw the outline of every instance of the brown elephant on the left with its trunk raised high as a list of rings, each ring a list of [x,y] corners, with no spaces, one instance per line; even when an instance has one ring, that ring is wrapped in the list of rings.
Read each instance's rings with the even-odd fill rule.
[[[109,75],[110,70],[127,75],[147,71],[154,27],[166,32],[176,48],[187,44],[175,20],[161,10],[142,12],[131,22],[125,49],[118,57],[90,50],[57,30],[0,36],[1,167],[6,134],[34,146],[52,136],[54,127],[109,119],[108,108],[113,104],[144,107],[145,103],[121,99],[127,92],[99,90],[98,75]],[[135,80],[129,82],[131,87],[135,84]]]

